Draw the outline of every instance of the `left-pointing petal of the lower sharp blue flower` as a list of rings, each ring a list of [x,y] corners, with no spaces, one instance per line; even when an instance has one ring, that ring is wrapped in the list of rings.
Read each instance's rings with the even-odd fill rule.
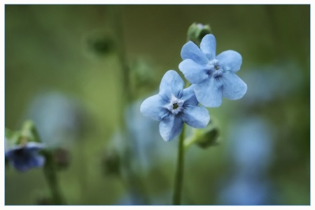
[[[167,102],[160,96],[155,94],[142,102],[140,106],[140,112],[153,120],[162,120],[168,113],[168,110],[164,107]]]

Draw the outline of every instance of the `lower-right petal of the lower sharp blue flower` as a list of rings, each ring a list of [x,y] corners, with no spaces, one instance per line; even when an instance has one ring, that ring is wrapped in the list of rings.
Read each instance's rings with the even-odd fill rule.
[[[206,127],[210,120],[209,111],[206,107],[191,105],[185,107],[181,118],[184,123],[195,128]]]

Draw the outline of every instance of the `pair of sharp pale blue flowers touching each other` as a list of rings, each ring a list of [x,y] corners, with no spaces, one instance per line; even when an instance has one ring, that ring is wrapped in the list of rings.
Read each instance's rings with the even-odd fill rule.
[[[160,134],[165,141],[182,132],[183,123],[204,128],[210,120],[206,107],[218,107],[222,97],[236,100],[244,96],[247,85],[235,73],[241,67],[241,55],[227,50],[216,56],[216,38],[207,34],[200,48],[188,41],[181,50],[183,62],[179,69],[192,83],[184,83],[176,71],[163,76],[159,94],[144,100],[140,111],[144,116],[160,121]],[[198,104],[203,106],[198,106]]]

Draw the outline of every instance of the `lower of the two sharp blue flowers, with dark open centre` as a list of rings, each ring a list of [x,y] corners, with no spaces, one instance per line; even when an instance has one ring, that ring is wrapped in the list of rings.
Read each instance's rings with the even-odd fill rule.
[[[198,101],[193,85],[183,89],[184,82],[174,70],[162,78],[160,92],[142,102],[140,111],[144,116],[160,121],[160,134],[165,141],[171,141],[183,129],[183,123],[195,128],[204,128],[210,120],[204,106]]]

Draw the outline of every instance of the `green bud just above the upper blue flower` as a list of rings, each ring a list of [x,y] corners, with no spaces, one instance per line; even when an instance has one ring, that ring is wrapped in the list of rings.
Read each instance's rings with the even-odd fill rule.
[[[203,25],[201,23],[194,22],[187,31],[188,41],[193,41],[196,45],[200,45],[202,38],[207,34],[211,34],[210,25]]]

